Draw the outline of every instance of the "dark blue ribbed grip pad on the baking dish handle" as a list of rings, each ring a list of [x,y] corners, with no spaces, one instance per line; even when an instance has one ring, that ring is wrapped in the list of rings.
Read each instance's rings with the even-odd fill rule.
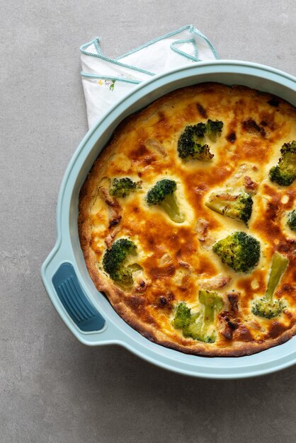
[[[105,320],[86,297],[74,267],[62,263],[52,277],[57,296],[78,328],[84,332],[101,330]]]

